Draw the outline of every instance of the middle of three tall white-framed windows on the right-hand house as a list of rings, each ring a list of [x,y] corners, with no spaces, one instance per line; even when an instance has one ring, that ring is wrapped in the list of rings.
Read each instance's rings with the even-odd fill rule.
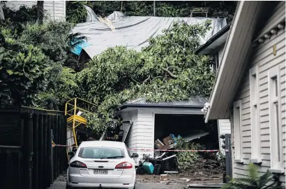
[[[260,156],[260,128],[258,124],[258,67],[249,70],[250,83],[250,117],[251,117],[251,159],[253,163],[261,163]]]

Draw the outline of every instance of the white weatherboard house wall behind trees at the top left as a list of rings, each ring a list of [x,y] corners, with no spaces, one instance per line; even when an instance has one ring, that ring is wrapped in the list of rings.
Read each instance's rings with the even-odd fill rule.
[[[6,6],[18,10],[20,6],[27,6],[31,8],[36,5],[37,1],[7,1]],[[52,20],[66,19],[66,1],[44,1],[44,9],[46,14]]]

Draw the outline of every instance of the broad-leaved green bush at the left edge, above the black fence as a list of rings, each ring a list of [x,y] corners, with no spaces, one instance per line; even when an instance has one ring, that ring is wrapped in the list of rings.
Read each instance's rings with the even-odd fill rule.
[[[8,29],[1,28],[0,37],[0,98],[31,105],[34,95],[45,90],[47,58],[32,44],[15,40]]]

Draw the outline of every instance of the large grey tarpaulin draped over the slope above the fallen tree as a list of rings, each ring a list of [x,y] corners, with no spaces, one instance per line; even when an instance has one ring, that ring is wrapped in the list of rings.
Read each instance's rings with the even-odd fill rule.
[[[83,50],[90,58],[100,54],[108,47],[126,46],[130,49],[140,51],[146,47],[148,39],[162,34],[163,29],[169,28],[174,21],[184,20],[188,24],[201,24],[207,19],[211,19],[211,30],[201,38],[201,43],[211,38],[221,28],[227,25],[225,18],[206,18],[206,17],[126,17],[121,12],[114,12],[107,17],[112,21],[115,30],[111,31],[110,27],[103,22],[99,22],[92,10],[88,10],[89,18],[87,21],[92,22],[80,23],[75,26],[73,33],[80,32],[89,38],[89,47]]]

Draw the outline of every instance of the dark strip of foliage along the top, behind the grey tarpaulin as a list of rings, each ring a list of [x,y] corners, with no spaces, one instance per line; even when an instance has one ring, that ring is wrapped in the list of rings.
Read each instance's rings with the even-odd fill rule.
[[[122,1],[122,7],[121,1],[88,1],[87,6],[102,17],[121,9],[128,16],[153,15],[153,1]],[[156,1],[156,16],[190,17],[191,8],[210,8],[209,17],[227,17],[227,21],[231,22],[236,1]]]

